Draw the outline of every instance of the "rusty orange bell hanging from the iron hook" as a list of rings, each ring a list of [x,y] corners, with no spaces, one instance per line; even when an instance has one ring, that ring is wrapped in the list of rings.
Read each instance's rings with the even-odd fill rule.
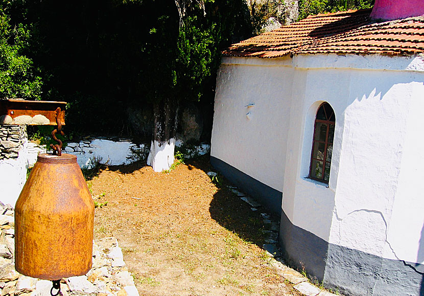
[[[94,203],[77,157],[39,154],[15,207],[15,268],[60,280],[91,268]]]

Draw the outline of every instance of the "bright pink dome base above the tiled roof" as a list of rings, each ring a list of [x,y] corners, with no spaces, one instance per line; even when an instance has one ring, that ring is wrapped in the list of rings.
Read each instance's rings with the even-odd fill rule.
[[[424,0],[375,0],[373,19],[399,19],[424,15]]]

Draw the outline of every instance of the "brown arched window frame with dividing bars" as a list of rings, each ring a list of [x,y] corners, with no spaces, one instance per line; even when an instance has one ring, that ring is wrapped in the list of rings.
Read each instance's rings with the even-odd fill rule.
[[[325,110],[325,106],[324,105],[326,105],[326,104],[332,110],[332,113],[329,116],[327,116],[327,112]],[[321,107],[324,110],[324,115],[325,115],[325,117],[326,117],[327,120],[317,119],[318,112],[321,109]],[[331,118],[333,117],[333,115],[334,115],[334,121],[331,120]],[[325,141],[316,140],[317,123],[326,124],[326,126],[327,126],[326,131],[325,131]],[[329,138],[328,132],[330,130],[331,125],[334,126],[334,128],[333,128],[333,142],[328,142],[328,138]],[[308,178],[313,179],[313,180],[316,180],[316,181],[320,181],[320,182],[325,183],[325,184],[328,184],[329,173],[328,173],[328,180],[326,180],[325,179],[325,166],[326,166],[326,163],[329,163],[330,170],[331,170],[331,160],[330,161],[327,161],[327,149],[328,149],[328,144],[329,145],[332,145],[334,147],[334,132],[335,132],[335,129],[336,129],[336,115],[335,115],[334,109],[333,109],[333,107],[330,104],[328,104],[327,102],[324,102],[324,103],[322,103],[322,104],[319,105],[319,107],[317,109],[317,112],[315,114],[314,130],[313,130],[313,134],[312,134],[312,151],[311,151],[311,158],[310,158],[310,167],[309,167],[309,176],[308,176]],[[323,155],[322,160],[320,160],[317,157],[314,157],[314,150],[315,150],[315,144],[316,143],[318,145],[319,145],[319,143],[323,143],[324,144],[324,153],[323,153],[324,155]],[[333,153],[332,153],[332,156],[333,156]],[[322,168],[321,168],[322,169],[322,173],[321,173],[322,178],[317,178],[317,177],[314,177],[312,175],[312,169],[313,169],[312,164],[313,164],[314,161],[316,161],[316,162],[322,162]]]

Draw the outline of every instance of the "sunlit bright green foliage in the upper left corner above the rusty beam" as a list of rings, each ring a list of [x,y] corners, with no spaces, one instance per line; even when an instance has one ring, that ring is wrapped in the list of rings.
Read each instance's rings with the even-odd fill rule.
[[[40,99],[41,77],[30,51],[29,26],[14,22],[13,4],[0,2],[0,98]]]

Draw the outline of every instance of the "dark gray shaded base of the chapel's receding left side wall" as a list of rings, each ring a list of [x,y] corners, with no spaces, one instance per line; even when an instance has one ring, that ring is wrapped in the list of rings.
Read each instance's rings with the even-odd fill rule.
[[[210,164],[232,184],[261,202],[270,212],[277,215],[281,214],[282,193],[280,191],[263,184],[214,156],[210,156]]]

